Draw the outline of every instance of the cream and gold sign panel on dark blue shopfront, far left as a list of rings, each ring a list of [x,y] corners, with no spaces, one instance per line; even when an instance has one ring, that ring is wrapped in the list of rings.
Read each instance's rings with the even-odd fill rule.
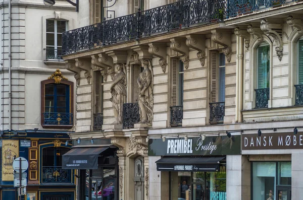
[[[19,157],[19,141],[18,140],[3,140],[2,141],[2,180],[13,181],[14,157]]]

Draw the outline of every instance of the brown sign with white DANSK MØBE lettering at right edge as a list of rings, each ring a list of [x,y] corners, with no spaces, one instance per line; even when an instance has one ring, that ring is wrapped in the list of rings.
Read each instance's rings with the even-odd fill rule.
[[[303,133],[274,132],[242,135],[242,150],[303,149]]]

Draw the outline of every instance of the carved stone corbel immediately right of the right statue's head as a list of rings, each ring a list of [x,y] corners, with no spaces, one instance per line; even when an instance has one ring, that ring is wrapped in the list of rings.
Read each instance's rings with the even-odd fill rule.
[[[166,60],[166,44],[165,43],[149,43],[148,52],[151,55],[159,57],[159,64],[161,65],[162,72],[165,73],[167,60]]]

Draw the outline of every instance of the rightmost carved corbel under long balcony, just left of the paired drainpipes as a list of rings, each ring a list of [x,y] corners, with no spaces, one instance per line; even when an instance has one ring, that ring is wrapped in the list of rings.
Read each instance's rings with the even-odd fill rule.
[[[228,62],[231,59],[231,34],[228,32],[219,32],[212,30],[212,40],[217,44],[224,46],[223,53]]]

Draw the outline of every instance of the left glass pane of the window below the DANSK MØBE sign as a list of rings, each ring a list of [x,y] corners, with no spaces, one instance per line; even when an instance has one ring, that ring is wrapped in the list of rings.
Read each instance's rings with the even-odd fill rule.
[[[253,200],[267,200],[275,194],[276,163],[252,163],[252,196]],[[275,199],[273,197],[273,199]]]

